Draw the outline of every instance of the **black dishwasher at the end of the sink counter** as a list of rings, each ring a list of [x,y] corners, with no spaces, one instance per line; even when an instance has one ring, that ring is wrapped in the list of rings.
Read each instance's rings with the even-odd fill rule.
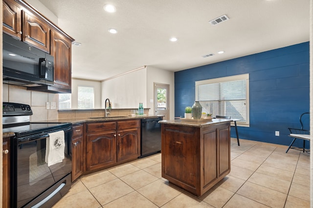
[[[141,119],[141,152],[139,158],[161,152],[162,117]]]

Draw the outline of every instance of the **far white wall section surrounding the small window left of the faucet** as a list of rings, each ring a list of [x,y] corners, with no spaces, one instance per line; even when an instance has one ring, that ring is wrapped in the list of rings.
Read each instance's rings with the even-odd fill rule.
[[[71,109],[78,109],[78,86],[94,87],[94,109],[101,108],[101,82],[72,78]]]

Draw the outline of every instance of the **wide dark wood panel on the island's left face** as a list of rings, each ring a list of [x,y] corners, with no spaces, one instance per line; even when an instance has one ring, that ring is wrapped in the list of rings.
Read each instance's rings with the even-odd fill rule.
[[[166,126],[166,125],[165,125]],[[195,128],[162,129],[162,177],[176,181],[184,189],[196,189],[197,149]],[[197,136],[198,135],[198,136]]]

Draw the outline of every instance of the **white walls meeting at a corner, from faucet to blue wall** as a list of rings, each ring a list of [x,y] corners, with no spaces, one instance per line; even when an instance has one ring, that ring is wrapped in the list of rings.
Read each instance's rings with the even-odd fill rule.
[[[174,72],[147,66],[116,78],[103,81],[101,84],[101,106],[109,98],[112,108],[137,108],[139,102],[144,108],[150,108],[149,114],[154,114],[154,83],[170,85],[170,119],[174,119]]]

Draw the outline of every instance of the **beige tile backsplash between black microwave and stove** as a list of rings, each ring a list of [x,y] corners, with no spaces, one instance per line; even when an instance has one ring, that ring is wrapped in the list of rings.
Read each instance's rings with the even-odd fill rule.
[[[26,87],[2,85],[3,102],[14,102],[30,105],[33,115],[31,121],[43,121],[58,118],[58,94],[26,90]],[[56,102],[57,109],[46,109],[46,102]]]

